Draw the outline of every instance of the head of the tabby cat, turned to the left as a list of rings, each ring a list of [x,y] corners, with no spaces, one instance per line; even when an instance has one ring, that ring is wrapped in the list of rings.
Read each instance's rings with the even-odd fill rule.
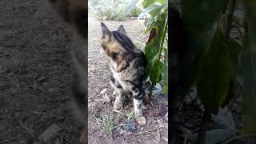
[[[102,26],[102,47],[106,54],[118,54],[119,52],[129,52],[134,50],[134,43],[126,35],[126,30],[121,25],[118,30],[110,31],[106,25],[101,22]]]

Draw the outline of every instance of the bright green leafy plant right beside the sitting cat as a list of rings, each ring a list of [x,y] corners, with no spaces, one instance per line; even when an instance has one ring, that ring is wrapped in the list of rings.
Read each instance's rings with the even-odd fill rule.
[[[138,0],[130,1],[126,7],[126,13]],[[147,60],[146,77],[150,78],[152,94],[153,87],[158,83],[163,83],[164,92],[168,91],[168,2],[167,0],[144,0],[142,1],[142,10],[139,18],[150,14],[149,26],[145,33],[150,33],[150,38],[144,48]]]

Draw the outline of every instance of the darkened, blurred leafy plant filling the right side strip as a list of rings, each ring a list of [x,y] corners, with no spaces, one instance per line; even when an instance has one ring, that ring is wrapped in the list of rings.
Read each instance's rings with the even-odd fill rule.
[[[252,113],[256,106],[250,104],[256,99],[256,45],[253,37],[256,34],[256,1],[243,2],[246,11],[245,34],[243,41],[239,42],[230,38],[236,0],[181,1],[182,19],[190,38],[188,46],[194,59],[192,62],[182,60],[184,64],[193,64],[181,65],[180,77],[184,78],[182,82],[190,85],[180,91],[187,91],[190,86],[195,85],[198,97],[205,106],[202,127],[198,135],[199,144],[205,142],[207,123],[211,122],[211,114],[218,114],[219,107],[226,106],[241,86],[244,87],[242,133],[256,133],[256,115]],[[244,82],[241,83],[239,79],[244,79]]]

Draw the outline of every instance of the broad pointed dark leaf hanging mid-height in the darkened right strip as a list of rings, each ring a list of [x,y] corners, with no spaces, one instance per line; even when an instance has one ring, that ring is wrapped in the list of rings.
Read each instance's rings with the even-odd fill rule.
[[[215,35],[209,52],[204,58],[198,78],[198,97],[213,114],[218,114],[218,107],[225,100],[229,90],[231,59],[221,32]]]

